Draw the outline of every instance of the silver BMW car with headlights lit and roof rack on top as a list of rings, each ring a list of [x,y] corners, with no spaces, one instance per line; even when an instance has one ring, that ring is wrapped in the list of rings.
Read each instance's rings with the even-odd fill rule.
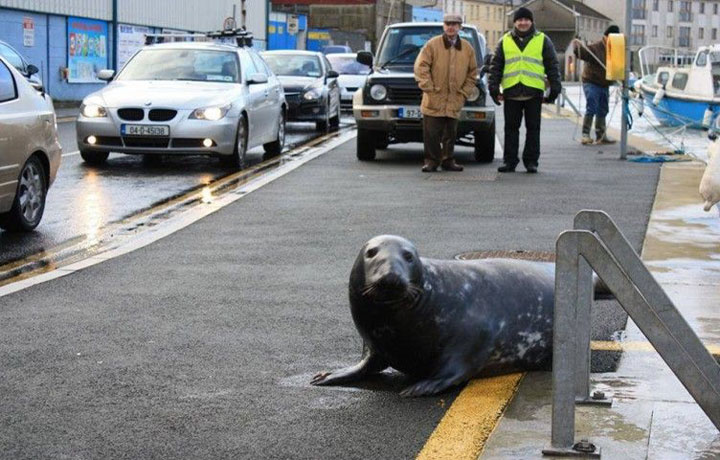
[[[255,50],[210,42],[140,49],[117,76],[87,96],[77,142],[82,158],[103,163],[110,152],[204,154],[235,169],[248,149],[277,155],[285,144],[282,85]]]

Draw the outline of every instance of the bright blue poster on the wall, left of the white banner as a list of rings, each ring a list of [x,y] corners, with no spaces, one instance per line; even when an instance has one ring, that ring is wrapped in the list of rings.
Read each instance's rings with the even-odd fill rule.
[[[105,21],[68,18],[68,82],[99,83],[97,73],[108,68],[108,28]]]

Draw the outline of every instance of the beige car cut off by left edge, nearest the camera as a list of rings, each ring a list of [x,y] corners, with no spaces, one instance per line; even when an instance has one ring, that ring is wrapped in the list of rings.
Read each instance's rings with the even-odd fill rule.
[[[50,96],[0,57],[0,228],[38,226],[61,158]]]

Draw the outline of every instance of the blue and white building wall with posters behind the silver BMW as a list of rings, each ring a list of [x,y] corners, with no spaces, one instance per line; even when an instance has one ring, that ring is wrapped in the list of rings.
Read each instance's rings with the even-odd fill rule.
[[[219,30],[233,14],[264,49],[266,0],[0,0],[0,40],[40,69],[53,99],[76,101],[102,88],[97,72],[121,68],[144,34]]]

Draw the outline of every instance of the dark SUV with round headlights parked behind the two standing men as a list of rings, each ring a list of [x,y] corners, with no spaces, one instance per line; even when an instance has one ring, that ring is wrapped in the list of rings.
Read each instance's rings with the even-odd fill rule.
[[[358,52],[358,62],[373,68],[362,91],[353,95],[359,160],[375,159],[375,150],[388,144],[422,142],[422,91],[413,64],[425,43],[442,32],[440,22],[393,24],[385,29],[375,58],[368,51]],[[474,26],[463,26],[460,36],[475,48],[478,65],[488,62],[485,38]],[[474,147],[475,159],[489,163],[495,155],[495,106],[486,103],[490,98],[483,70],[475,97],[460,114],[456,143]]]

